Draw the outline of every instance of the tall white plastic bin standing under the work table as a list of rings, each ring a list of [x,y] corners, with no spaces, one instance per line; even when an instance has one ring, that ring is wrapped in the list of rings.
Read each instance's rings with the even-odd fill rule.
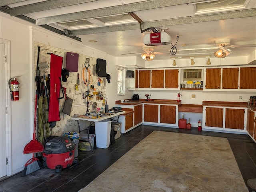
[[[111,122],[110,120],[95,122],[96,146],[98,148],[106,149],[109,147]]]

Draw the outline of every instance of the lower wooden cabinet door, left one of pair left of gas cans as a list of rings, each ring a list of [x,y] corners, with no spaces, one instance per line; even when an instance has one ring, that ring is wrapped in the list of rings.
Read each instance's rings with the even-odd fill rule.
[[[158,105],[144,105],[144,121],[158,123]]]

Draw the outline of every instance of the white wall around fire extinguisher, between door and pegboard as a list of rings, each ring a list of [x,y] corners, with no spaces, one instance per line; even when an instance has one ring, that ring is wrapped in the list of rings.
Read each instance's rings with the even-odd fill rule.
[[[10,74],[18,76],[20,82],[20,100],[11,102],[11,138],[12,138],[12,174],[23,170],[24,164],[32,157],[24,155],[24,146],[32,139],[33,95],[32,63],[30,55],[29,27],[2,17],[1,39],[11,41]],[[2,64],[1,64],[2,65]],[[10,99],[10,98],[8,98]]]

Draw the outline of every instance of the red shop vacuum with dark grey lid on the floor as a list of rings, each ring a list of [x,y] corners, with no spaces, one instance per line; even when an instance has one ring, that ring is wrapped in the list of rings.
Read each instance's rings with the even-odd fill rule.
[[[48,168],[61,172],[71,167],[74,160],[75,144],[66,136],[50,136],[46,139],[43,156]]]

